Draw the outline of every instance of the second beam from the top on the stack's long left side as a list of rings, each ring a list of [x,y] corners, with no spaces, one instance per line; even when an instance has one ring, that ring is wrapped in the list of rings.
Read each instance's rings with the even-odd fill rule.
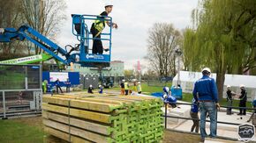
[[[42,108],[42,110],[45,110],[45,111],[54,111],[54,112],[63,113],[66,115],[69,114],[68,107],[57,106],[57,105],[52,105],[52,104],[41,104],[41,108]],[[94,120],[94,121],[107,123],[107,124],[111,123],[110,115],[93,112],[93,111],[81,111],[78,109],[70,108],[70,115],[74,116],[74,117],[86,118],[89,120]]]

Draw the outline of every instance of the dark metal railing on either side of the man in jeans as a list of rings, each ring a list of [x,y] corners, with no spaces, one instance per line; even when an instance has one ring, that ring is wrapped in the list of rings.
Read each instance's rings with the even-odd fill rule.
[[[177,104],[184,104],[184,105],[192,105],[192,104],[185,104],[185,103],[177,103]],[[178,118],[178,119],[185,119],[185,120],[198,120],[200,121],[200,119],[198,118],[184,118],[184,117],[178,117],[178,116],[168,116],[167,115],[167,107],[168,107],[168,103],[164,103],[164,115],[162,115],[162,117],[164,118],[164,128],[165,129],[168,129],[167,128],[167,120],[168,118]],[[247,107],[235,107],[235,106],[221,106],[221,108],[231,108],[231,109],[246,109],[246,110],[252,110],[252,111],[255,111],[256,109],[254,108],[247,108]],[[230,123],[230,122],[223,122],[223,121],[218,121],[218,117],[217,117],[217,111],[216,111],[216,119],[217,119],[217,124],[224,124],[224,125],[242,125],[242,124],[237,124],[237,123]],[[253,119],[252,118],[252,124],[253,124]],[[210,120],[206,120],[206,122],[210,122]],[[218,125],[216,124],[216,131],[218,130]],[[184,132],[184,131],[179,131],[179,130],[175,130],[175,129],[171,129],[171,131],[177,131],[177,132]],[[186,133],[194,133],[194,132],[186,132]],[[217,133],[217,132],[216,132]],[[197,134],[200,134],[200,133],[197,133]],[[230,139],[230,140],[237,140],[235,138],[229,138],[229,137],[224,137],[224,136],[217,136],[218,138],[220,139]]]

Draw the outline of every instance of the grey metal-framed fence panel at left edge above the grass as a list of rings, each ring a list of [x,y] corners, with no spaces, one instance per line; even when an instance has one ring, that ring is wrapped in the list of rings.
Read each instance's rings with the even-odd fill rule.
[[[41,66],[0,64],[0,118],[41,113]]]

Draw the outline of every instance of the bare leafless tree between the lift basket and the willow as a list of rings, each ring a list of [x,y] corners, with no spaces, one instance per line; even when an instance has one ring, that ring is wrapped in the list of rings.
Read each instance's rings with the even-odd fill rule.
[[[146,59],[158,75],[176,74],[175,48],[180,39],[180,32],[172,24],[154,24],[149,30]]]

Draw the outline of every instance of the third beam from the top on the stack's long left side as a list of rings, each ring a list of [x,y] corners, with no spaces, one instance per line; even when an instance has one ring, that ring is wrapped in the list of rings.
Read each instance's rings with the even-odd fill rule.
[[[63,116],[63,115],[59,115],[59,114],[56,114],[56,113],[43,111],[42,112],[42,117],[47,118],[47,119],[51,119],[51,120],[55,120],[57,122],[61,122],[61,123],[64,123],[64,124],[69,124],[69,118],[68,117]],[[105,135],[110,135],[110,133],[111,133],[110,126],[99,125],[99,124],[87,122],[87,121],[84,121],[84,120],[80,120],[80,119],[77,119],[77,118],[70,118],[70,124],[73,125],[73,126],[78,126],[79,128],[86,129],[88,131],[98,132],[98,133],[102,133],[102,134],[105,134]]]

